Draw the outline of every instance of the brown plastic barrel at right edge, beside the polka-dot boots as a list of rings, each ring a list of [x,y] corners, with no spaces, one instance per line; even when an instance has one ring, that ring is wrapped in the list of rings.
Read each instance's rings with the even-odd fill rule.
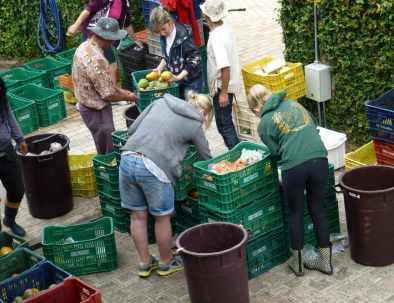
[[[394,263],[394,167],[363,166],[342,174],[350,255],[360,264]]]

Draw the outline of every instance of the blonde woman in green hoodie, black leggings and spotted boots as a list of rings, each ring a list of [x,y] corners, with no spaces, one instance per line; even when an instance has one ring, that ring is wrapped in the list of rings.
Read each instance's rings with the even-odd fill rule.
[[[327,150],[316,120],[301,104],[286,100],[286,92],[272,93],[254,85],[247,97],[250,110],[261,117],[257,132],[282,170],[282,187],[290,209],[292,256],[289,267],[296,276],[304,266],[332,274],[328,220],[323,212],[329,167]],[[318,258],[304,260],[304,190],[318,243]]]

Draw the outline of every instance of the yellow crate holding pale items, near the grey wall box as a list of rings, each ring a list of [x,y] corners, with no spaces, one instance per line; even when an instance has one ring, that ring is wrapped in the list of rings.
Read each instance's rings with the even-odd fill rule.
[[[246,94],[255,84],[262,84],[273,92],[286,90],[286,98],[297,100],[306,95],[304,70],[301,63],[286,62],[290,70],[277,74],[261,76],[254,72],[274,60],[272,57],[264,57],[256,62],[242,67],[242,77]]]

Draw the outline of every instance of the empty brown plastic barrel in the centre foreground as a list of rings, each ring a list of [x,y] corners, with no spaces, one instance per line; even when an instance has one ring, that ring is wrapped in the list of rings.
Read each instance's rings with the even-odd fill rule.
[[[181,233],[176,246],[185,267],[192,303],[248,303],[248,234],[236,224],[216,222]]]

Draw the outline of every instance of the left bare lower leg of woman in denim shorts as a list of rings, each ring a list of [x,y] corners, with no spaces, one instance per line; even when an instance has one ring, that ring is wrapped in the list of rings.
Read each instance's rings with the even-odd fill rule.
[[[141,263],[149,262],[148,250],[148,211],[133,210],[131,220],[131,237],[137,249]]]

